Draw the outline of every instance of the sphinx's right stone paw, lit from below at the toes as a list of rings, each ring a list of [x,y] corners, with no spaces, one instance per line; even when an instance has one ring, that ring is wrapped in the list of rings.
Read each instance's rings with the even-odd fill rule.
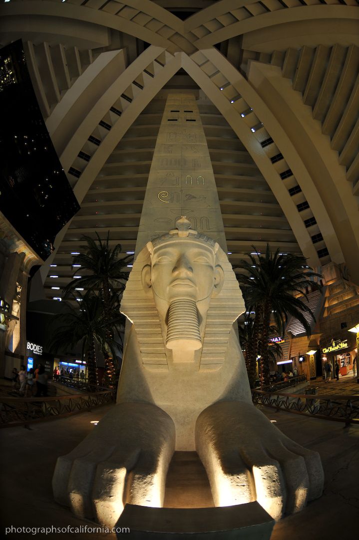
[[[322,495],[320,456],[283,435],[250,403],[205,409],[196,423],[196,450],[216,506],[256,500],[280,519]]]

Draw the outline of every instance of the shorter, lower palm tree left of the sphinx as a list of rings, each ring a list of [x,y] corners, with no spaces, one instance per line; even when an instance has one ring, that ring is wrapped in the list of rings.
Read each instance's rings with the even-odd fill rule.
[[[108,346],[115,351],[118,343],[112,336],[121,327],[122,315],[119,311],[105,311],[102,299],[93,292],[78,298],[76,307],[66,301],[63,304],[64,312],[53,321],[49,349],[58,352],[81,344],[82,358],[87,361],[89,384],[97,386],[96,345],[101,349]]]

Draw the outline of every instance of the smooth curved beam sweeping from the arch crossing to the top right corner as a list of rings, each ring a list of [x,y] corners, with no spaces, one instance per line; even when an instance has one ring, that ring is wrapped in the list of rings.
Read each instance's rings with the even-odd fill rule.
[[[288,23],[298,23],[301,21],[320,21],[320,19],[331,19],[333,23],[338,25],[338,21],[347,20],[352,24],[359,17],[358,10],[354,6],[347,5],[315,5],[315,6],[301,6],[300,8],[287,8],[277,11],[270,11],[268,13],[257,15],[255,17],[249,17],[243,21],[230,24],[210,33],[201,39],[196,40],[194,45],[197,49],[203,49],[215,43],[221,43],[231,37],[245,35],[248,32],[254,32],[271,26]],[[353,27],[355,23],[353,24]],[[357,39],[357,31],[355,28],[351,32],[353,33],[353,39]],[[284,45],[283,45],[284,46]],[[289,45],[285,45],[288,48]]]

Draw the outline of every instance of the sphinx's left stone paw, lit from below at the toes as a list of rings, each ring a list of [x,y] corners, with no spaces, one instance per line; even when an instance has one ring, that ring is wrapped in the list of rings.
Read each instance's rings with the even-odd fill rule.
[[[175,448],[170,417],[148,403],[119,403],[78,446],[58,458],[55,500],[114,527],[124,504],[163,505]]]

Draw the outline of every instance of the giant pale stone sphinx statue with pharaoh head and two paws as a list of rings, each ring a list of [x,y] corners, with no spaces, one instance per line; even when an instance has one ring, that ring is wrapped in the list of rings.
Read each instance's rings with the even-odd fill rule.
[[[58,458],[55,499],[113,527],[126,502],[161,507],[172,454],[196,450],[216,506],[257,500],[280,519],[322,494],[320,457],[252,404],[227,255],[187,219],[176,225],[138,254],[121,305],[132,325],[117,404]]]

